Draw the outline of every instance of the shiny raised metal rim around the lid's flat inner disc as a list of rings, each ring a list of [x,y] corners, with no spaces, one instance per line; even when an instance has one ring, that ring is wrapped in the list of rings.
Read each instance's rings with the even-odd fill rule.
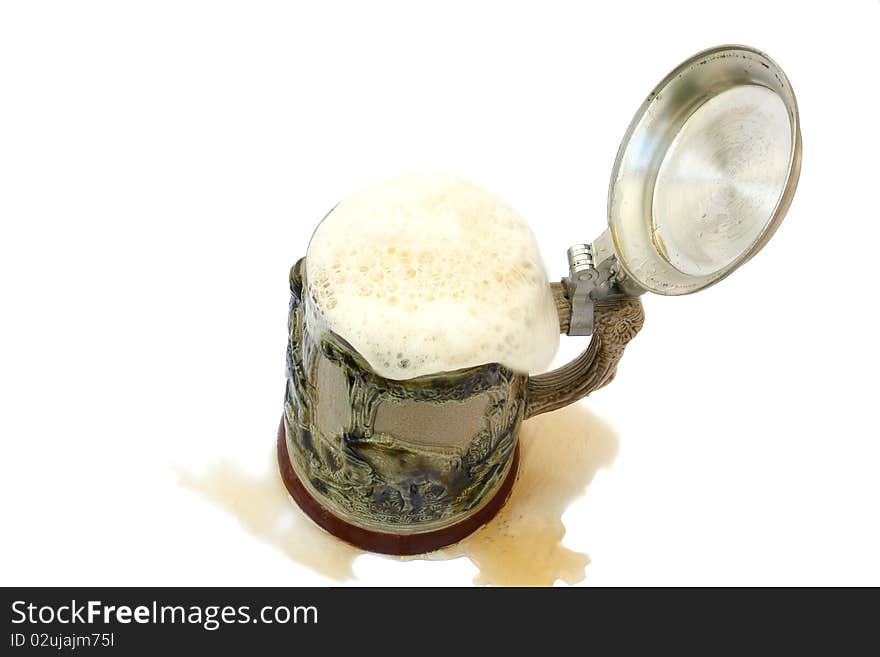
[[[672,140],[694,112],[722,92],[745,85],[773,91],[788,112],[791,153],[786,181],[772,215],[748,249],[718,271],[684,273],[660,253],[654,242],[654,182]],[[650,156],[647,163],[646,155]],[[648,95],[617,152],[608,190],[608,225],[621,267],[639,287],[655,294],[690,294],[717,283],[773,236],[791,204],[800,164],[797,101],[788,78],[772,59],[741,45],[717,46],[688,58]]]

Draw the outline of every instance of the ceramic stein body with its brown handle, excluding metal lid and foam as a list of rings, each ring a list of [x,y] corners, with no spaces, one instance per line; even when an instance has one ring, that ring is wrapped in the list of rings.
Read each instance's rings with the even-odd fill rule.
[[[590,348],[547,374],[490,363],[392,380],[342,337],[310,328],[303,269],[290,276],[282,474],[315,522],[375,552],[430,551],[489,520],[516,477],[523,419],[610,381],[643,321],[638,298],[601,304]],[[555,292],[565,329],[568,300],[562,285]]]

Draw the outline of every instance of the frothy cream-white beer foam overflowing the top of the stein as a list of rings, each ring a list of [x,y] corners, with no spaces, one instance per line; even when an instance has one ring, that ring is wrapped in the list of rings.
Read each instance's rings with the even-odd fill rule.
[[[318,225],[306,256],[315,314],[381,376],[485,363],[545,369],[556,306],[525,220],[465,180],[373,184]]]

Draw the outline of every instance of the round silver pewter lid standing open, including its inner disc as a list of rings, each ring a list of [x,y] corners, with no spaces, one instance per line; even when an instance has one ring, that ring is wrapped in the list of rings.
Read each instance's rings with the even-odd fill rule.
[[[705,50],[651,92],[620,145],[608,225],[624,272],[696,292],[757,253],[797,186],[797,102],[782,69],[746,46]]]

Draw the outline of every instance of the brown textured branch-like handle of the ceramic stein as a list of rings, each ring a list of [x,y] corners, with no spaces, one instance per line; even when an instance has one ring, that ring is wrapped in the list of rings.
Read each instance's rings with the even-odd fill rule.
[[[571,301],[566,287],[551,283],[559,329],[568,332]],[[638,297],[621,297],[597,302],[594,308],[590,344],[570,363],[551,372],[530,376],[526,384],[525,418],[555,411],[589,395],[611,382],[623,350],[645,322]]]

